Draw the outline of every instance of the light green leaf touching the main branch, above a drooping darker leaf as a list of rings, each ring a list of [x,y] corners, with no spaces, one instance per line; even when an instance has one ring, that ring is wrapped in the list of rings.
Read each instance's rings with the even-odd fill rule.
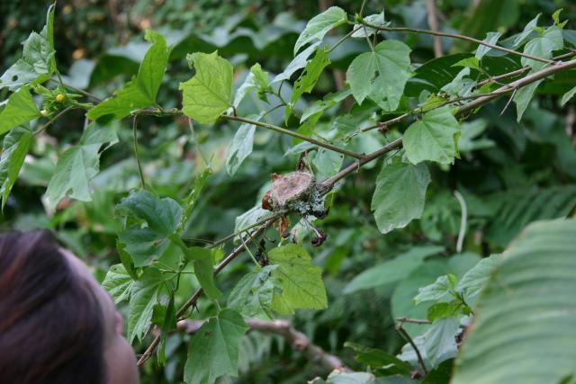
[[[441,164],[454,162],[455,134],[460,132],[448,106],[427,112],[421,121],[416,121],[404,133],[404,148],[406,156],[412,164],[424,160],[436,161]]]

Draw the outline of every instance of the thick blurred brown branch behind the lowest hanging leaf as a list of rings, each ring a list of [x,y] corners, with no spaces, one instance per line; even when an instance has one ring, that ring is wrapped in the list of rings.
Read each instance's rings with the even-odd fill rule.
[[[290,326],[286,320],[258,320],[253,318],[245,319],[250,330],[275,334],[284,337],[292,345],[293,349],[306,353],[311,362],[320,364],[329,371],[342,369],[348,371],[344,363],[331,353],[327,353],[320,346],[313,344],[308,336]],[[194,334],[204,324],[204,320],[181,320],[178,322],[178,330],[187,334]]]

